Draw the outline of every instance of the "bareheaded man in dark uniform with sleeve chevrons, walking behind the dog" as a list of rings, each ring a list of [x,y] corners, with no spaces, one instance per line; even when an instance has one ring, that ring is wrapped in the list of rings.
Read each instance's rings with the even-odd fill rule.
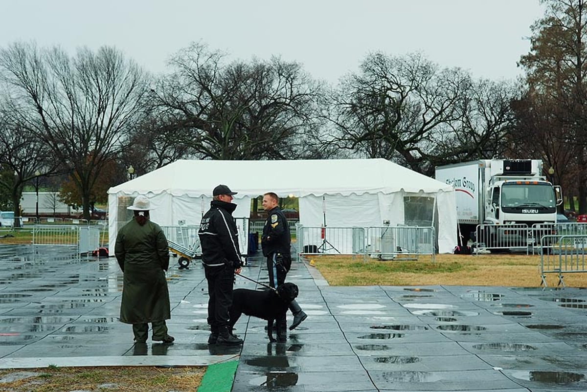
[[[289,225],[284,213],[278,206],[279,198],[274,192],[267,192],[263,195],[263,209],[267,211],[267,219],[261,236],[263,255],[267,258],[267,270],[269,272],[269,285],[277,288],[285,282],[289,268],[291,268],[291,237],[289,236]],[[294,322],[289,330],[294,329],[308,317],[298,302],[292,300],[289,303],[289,310],[294,313]],[[276,320],[278,339],[285,339],[286,320]],[[281,334],[280,334],[281,332]]]

